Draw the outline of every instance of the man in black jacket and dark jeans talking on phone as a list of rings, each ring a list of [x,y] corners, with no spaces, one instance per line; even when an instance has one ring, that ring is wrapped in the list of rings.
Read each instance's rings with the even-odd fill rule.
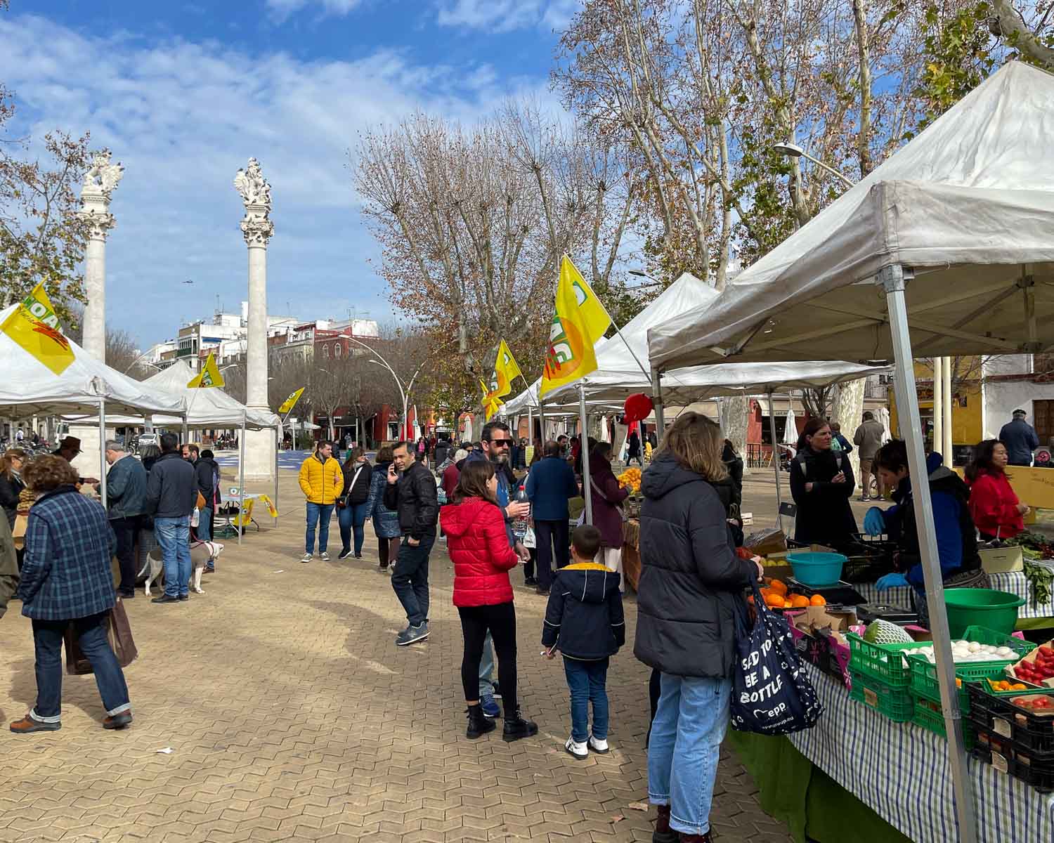
[[[428,554],[435,544],[440,518],[435,477],[413,456],[413,446],[401,442],[392,453],[385,488],[385,506],[398,513],[403,531],[392,588],[406,610],[407,628],[395,639],[405,647],[428,638]]]

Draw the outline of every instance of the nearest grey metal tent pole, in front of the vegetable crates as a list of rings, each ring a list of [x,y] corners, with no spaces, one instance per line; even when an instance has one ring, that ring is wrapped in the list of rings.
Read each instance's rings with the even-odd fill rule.
[[[900,431],[907,445],[907,463],[913,478],[912,497],[922,555],[922,574],[930,609],[930,631],[933,633],[934,654],[937,658],[937,680],[940,684],[940,702],[948,731],[948,763],[952,772],[952,790],[955,813],[959,824],[960,843],[976,843],[977,826],[974,812],[973,789],[967,770],[965,745],[962,740],[962,715],[959,694],[955,686],[955,663],[952,661],[951,633],[948,611],[944,607],[944,584],[940,558],[937,553],[937,532],[934,526],[933,504],[923,448],[922,425],[919,419],[919,400],[912,358],[912,342],[907,328],[907,305],[904,297],[903,269],[899,264],[885,267],[879,272],[879,283],[885,288],[885,302],[890,314],[890,332],[896,359],[894,388]],[[921,482],[920,482],[921,481]]]

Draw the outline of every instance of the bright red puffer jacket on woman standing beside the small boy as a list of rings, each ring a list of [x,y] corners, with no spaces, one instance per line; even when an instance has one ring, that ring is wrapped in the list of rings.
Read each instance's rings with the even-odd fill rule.
[[[520,556],[509,547],[502,510],[482,497],[469,497],[443,507],[440,524],[454,564],[454,606],[511,603],[509,571]]]

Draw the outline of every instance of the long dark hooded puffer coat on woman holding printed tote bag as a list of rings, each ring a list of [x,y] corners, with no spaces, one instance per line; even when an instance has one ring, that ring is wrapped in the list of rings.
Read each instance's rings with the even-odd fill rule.
[[[714,487],[671,454],[645,469],[641,492],[633,654],[664,673],[729,677],[736,613],[745,610],[743,590],[757,568],[736,555]]]

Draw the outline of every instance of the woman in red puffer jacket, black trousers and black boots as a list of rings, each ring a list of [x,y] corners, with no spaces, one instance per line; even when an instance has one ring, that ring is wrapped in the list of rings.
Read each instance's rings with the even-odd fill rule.
[[[516,614],[509,571],[520,561],[509,547],[505,516],[497,505],[497,475],[489,459],[465,463],[453,503],[440,510],[447,550],[454,564],[454,606],[465,636],[462,686],[468,706],[467,738],[494,728],[480,706],[480,659],[490,632],[497,651],[505,724],[502,738],[516,741],[538,733],[516,703]]]

